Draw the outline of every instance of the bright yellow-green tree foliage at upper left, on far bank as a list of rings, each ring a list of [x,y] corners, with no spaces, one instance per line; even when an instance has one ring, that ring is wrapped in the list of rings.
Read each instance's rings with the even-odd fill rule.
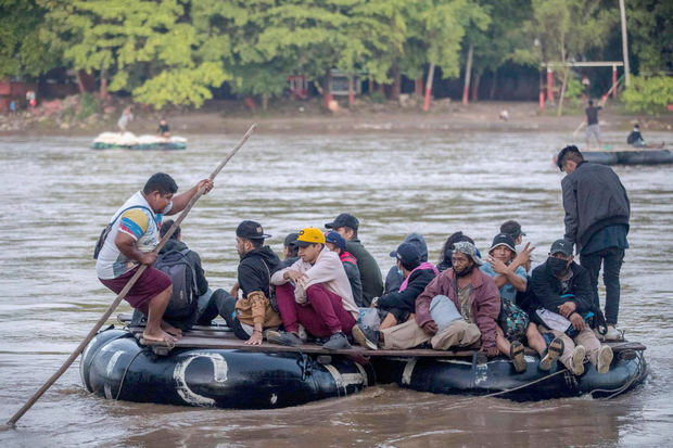
[[[48,13],[48,42],[73,68],[98,71],[101,97],[126,90],[160,108],[202,105],[228,77],[200,54],[186,4],[177,0],[59,2]]]

